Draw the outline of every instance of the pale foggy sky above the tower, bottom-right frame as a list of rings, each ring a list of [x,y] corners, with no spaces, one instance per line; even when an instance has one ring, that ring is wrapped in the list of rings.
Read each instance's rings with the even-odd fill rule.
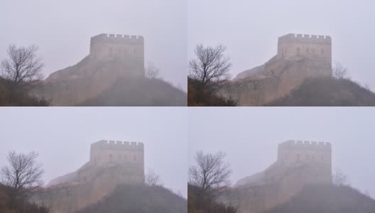
[[[188,164],[197,151],[227,153],[232,183],[259,173],[287,140],[332,143],[332,168],[375,197],[375,110],[361,107],[189,108]]]

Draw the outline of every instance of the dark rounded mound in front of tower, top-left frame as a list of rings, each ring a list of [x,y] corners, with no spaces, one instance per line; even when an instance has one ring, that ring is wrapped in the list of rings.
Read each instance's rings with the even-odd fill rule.
[[[186,106],[187,94],[159,79],[116,80],[97,97],[77,106]]]

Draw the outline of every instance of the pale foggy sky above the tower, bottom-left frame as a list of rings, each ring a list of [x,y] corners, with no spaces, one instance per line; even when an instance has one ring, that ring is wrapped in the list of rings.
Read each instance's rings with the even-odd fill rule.
[[[161,176],[165,187],[187,197],[187,108],[72,107],[0,108],[0,166],[6,154],[36,151],[45,183],[89,161],[91,143],[139,141],[145,168]]]

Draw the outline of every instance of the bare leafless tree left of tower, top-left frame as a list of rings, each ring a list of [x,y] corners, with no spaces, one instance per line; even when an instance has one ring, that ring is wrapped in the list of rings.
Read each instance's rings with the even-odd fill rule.
[[[0,65],[2,76],[16,84],[40,80],[44,64],[42,58],[37,57],[37,51],[36,45],[27,48],[9,45],[6,51],[9,59],[2,60]]]

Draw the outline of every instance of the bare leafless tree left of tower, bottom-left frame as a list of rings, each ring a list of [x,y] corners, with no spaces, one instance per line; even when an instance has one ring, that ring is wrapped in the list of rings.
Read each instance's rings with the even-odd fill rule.
[[[9,152],[7,156],[9,165],[1,168],[4,185],[12,187],[15,192],[40,187],[44,171],[42,165],[36,162],[37,157],[38,154],[35,152],[28,154]]]

